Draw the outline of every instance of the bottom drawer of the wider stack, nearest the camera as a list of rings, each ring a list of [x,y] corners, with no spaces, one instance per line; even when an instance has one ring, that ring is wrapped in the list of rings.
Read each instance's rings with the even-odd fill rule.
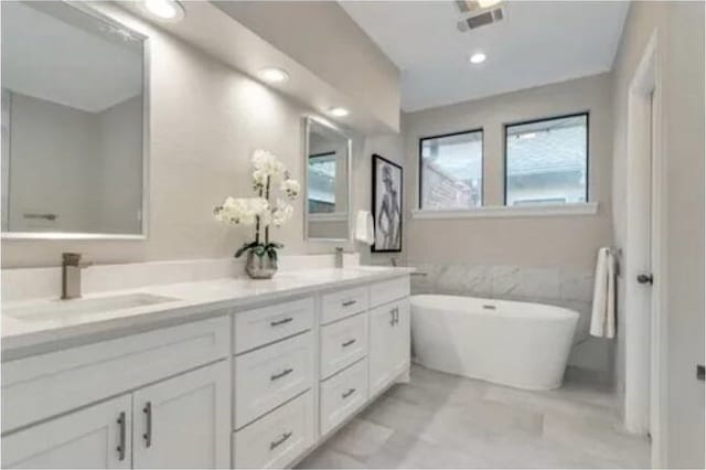
[[[235,468],[287,468],[313,445],[313,393],[309,391],[234,432]]]

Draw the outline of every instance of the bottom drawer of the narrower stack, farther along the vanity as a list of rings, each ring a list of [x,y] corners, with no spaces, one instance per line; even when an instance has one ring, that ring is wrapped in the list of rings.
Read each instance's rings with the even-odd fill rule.
[[[343,423],[367,400],[367,359],[321,383],[321,435]]]

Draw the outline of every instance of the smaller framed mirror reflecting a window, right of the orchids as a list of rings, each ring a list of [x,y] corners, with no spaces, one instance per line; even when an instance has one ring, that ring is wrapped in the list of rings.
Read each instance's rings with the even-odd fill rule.
[[[333,125],[304,119],[304,238],[351,237],[351,139]]]

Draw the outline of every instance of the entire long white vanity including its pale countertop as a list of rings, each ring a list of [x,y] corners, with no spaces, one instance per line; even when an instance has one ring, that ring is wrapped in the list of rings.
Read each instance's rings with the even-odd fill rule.
[[[8,302],[2,467],[293,466],[408,380],[409,273],[150,286],[117,295],[172,300],[90,314]]]

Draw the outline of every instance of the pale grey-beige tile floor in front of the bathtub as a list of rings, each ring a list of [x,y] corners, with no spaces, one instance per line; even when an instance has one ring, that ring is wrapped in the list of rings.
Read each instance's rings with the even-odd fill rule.
[[[569,382],[527,392],[415,365],[299,468],[648,468],[611,395]]]

